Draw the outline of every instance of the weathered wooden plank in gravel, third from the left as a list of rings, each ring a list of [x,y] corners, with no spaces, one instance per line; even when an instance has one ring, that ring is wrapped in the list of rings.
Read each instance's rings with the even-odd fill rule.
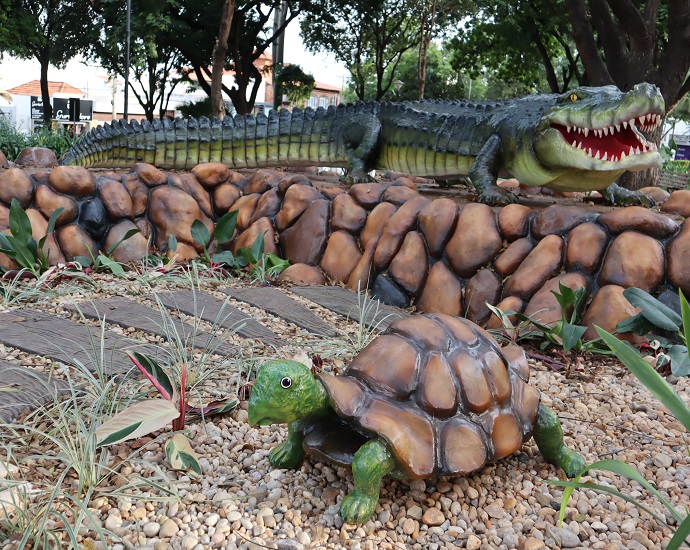
[[[158,307],[149,307],[134,300],[105,298],[92,302],[66,305],[65,309],[75,313],[81,312],[88,319],[98,320],[105,316],[106,322],[115,323],[123,327],[133,327],[136,330],[143,330],[149,334],[155,334],[168,339],[168,335],[163,330],[163,315],[158,310]],[[174,325],[174,330],[170,327],[170,322]],[[206,332],[197,330],[193,325],[183,323],[175,317],[170,316],[166,323],[168,323],[166,330],[172,332],[172,338],[175,338],[175,333],[177,333],[183,341],[193,341],[196,348],[215,349],[217,353],[222,355],[232,355],[237,352],[236,347],[226,344],[218,338],[211,337]]]

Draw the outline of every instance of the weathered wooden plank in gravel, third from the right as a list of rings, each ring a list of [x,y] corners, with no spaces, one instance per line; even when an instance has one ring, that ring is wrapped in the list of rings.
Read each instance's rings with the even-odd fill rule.
[[[196,302],[195,302],[196,296]],[[152,296],[147,296],[152,300]],[[256,322],[247,313],[219,300],[206,292],[191,292],[179,290],[177,292],[162,292],[158,299],[169,309],[177,309],[187,315],[194,315],[208,321],[234,330],[242,338],[261,340],[264,344],[276,348],[284,346],[280,336]]]

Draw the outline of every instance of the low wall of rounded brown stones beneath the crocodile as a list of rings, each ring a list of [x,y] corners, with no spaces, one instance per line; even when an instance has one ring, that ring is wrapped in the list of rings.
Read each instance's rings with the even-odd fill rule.
[[[625,287],[643,288],[670,304],[678,300],[678,287],[690,295],[690,222],[640,207],[605,214],[559,205],[492,209],[427,199],[407,178],[358,184],[348,192],[319,190],[302,174],[246,176],[216,163],[187,173],[147,164],[127,174],[11,168],[0,174],[0,230],[7,231],[12,198],[27,209],[36,238],[45,234],[50,214],[64,207],[48,239],[53,263],[107,249],[134,227],[141,233],[115,251],[115,260],[164,253],[170,235],[181,257],[190,259],[199,252],[190,234],[193,220],[212,230],[214,220],[239,210],[230,248],[250,246],[265,232],[266,251],[297,264],[285,279],[320,282],[325,274],[352,289],[369,286],[395,305],[489,326],[495,319],[485,302],[543,322],[560,318],[550,292],[559,282],[586,287],[592,301],[585,322],[607,329],[632,313],[622,297]],[[690,191],[673,193],[667,205],[689,215]],[[3,255],[0,263],[13,267]],[[590,328],[587,336],[594,335]]]

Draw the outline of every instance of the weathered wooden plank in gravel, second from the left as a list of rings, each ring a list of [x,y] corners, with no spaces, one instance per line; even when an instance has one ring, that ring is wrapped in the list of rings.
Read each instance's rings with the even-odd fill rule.
[[[0,314],[0,342],[3,344],[70,365],[81,361],[92,372],[96,370],[94,356],[101,353],[100,340],[100,328],[41,311],[16,310]],[[105,372],[111,375],[127,372],[133,366],[126,357],[128,350],[153,357],[161,355],[158,346],[138,343],[109,330],[103,333],[103,347]]]

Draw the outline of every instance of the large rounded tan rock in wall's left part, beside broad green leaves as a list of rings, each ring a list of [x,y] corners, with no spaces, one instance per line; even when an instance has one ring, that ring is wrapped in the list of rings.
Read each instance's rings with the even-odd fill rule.
[[[156,228],[156,246],[163,250],[170,235],[201,250],[191,234],[194,220],[201,220],[213,232],[213,222],[201,211],[199,203],[173,185],[156,187],[151,191],[149,219]]]

